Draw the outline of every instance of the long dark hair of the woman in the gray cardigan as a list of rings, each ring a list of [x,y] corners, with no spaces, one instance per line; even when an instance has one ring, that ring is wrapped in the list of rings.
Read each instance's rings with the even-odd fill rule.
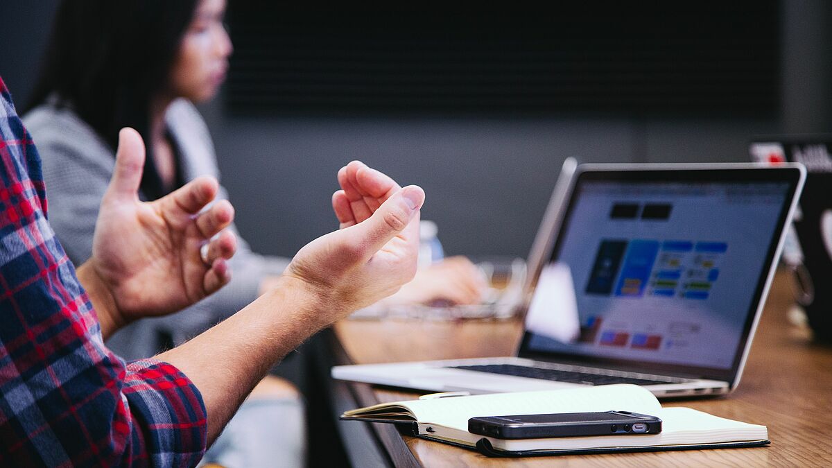
[[[153,164],[150,107],[166,91],[181,38],[197,0],[64,0],[26,111],[54,93],[115,152],[118,131],[133,127],[146,142],[142,192],[161,197]]]

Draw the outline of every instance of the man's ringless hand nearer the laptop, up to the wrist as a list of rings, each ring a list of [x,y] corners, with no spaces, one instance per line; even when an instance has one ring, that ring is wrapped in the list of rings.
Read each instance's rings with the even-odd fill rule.
[[[329,314],[317,317],[320,326],[398,291],[413,279],[418,256],[420,187],[400,188],[361,162],[338,179],[332,202],[341,229],[304,246],[285,271],[323,301]]]

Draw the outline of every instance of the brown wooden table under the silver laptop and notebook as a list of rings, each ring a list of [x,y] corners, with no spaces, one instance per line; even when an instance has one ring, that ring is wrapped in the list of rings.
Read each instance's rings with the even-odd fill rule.
[[[377,451],[359,461],[350,456],[354,464],[393,466],[832,466],[832,347],[814,344],[805,326],[790,322],[792,301],[786,280],[782,274],[775,279],[734,393],[662,403],[768,426],[768,447],[491,459],[476,451],[401,435],[393,425],[340,421],[339,431],[348,435],[345,449],[353,455],[370,448]],[[521,332],[519,321],[342,321],[335,326],[339,342],[334,347],[336,357],[340,356],[336,361],[355,363],[507,356]],[[418,396],[353,382],[333,383],[340,386],[342,396],[336,411]]]

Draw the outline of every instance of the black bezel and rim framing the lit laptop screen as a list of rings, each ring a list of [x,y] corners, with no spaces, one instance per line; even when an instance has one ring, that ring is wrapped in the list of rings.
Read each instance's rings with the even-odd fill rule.
[[[557,361],[563,363],[580,364],[582,366],[599,366],[622,371],[636,371],[648,374],[664,374],[685,378],[703,378],[716,381],[728,381],[731,386],[738,380],[739,371],[744,364],[748,352],[750,337],[756,321],[762,311],[761,297],[767,292],[771,276],[775,271],[775,255],[782,248],[782,238],[785,233],[786,222],[795,207],[795,194],[805,177],[805,171],[796,164],[783,164],[770,167],[763,164],[725,164],[716,165],[582,165],[571,185],[568,202],[562,211],[561,222],[553,230],[554,241],[543,265],[557,260],[562,249],[563,233],[567,231],[572,212],[577,201],[582,183],[585,182],[745,182],[766,183],[786,182],[788,189],[780,207],[775,229],[772,230],[769,247],[766,251],[765,262],[757,278],[754,296],[745,314],[742,336],[734,351],[734,359],[730,368],[685,366],[655,361],[636,361],[629,359],[587,356],[564,351],[533,351],[528,344],[532,337],[529,331],[524,331],[518,350],[518,356],[535,359],[537,361]],[[541,268],[542,269],[542,268]],[[537,276],[540,271],[534,271]],[[532,284],[537,281],[532,281]]]

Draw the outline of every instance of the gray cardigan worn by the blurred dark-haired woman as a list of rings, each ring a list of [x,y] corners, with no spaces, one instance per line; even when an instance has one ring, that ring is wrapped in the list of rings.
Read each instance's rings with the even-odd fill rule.
[[[190,181],[201,175],[219,178],[208,129],[191,102],[173,102],[165,120],[179,149],[183,179]],[[71,109],[47,103],[28,112],[23,122],[42,158],[49,222],[67,255],[80,265],[92,255],[98,206],[110,182],[114,153]],[[222,187],[219,197],[227,198]],[[118,331],[107,345],[126,359],[153,356],[168,339],[179,344],[253,301],[260,279],[280,274],[289,259],[259,255],[239,234],[237,240],[237,253],[230,261],[230,284],[184,311],[136,321]]]

